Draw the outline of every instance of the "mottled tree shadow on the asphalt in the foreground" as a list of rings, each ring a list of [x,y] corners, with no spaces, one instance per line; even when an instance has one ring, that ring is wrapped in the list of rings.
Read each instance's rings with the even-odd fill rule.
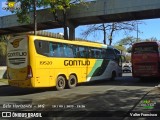
[[[105,93],[91,93],[79,95],[66,95],[65,97],[51,97],[48,99],[38,100],[38,104],[45,105],[84,105],[85,108],[51,108],[49,107],[46,110],[72,110],[72,111],[120,111],[127,112],[133,107],[133,105],[139,102],[146,94],[146,91],[143,88],[135,90],[108,90]],[[20,101],[6,101],[12,104],[29,104],[31,99],[21,99]]]

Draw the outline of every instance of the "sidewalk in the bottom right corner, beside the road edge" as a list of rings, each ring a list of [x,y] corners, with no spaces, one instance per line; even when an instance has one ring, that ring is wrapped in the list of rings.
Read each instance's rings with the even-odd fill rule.
[[[128,112],[128,116],[123,120],[160,120],[160,86],[146,93]]]

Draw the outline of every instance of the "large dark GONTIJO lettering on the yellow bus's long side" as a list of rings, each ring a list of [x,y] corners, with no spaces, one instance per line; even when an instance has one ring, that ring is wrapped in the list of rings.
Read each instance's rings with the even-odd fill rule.
[[[64,65],[65,66],[86,66],[86,65],[90,65],[90,61],[89,60],[65,60],[64,61]]]

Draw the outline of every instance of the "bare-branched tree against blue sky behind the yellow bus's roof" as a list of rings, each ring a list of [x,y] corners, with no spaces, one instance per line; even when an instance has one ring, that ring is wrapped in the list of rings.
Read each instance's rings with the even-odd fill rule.
[[[113,35],[116,32],[124,31],[125,34],[128,34],[132,31],[137,31],[137,24],[141,24],[139,21],[127,21],[127,22],[113,22],[113,23],[103,23],[103,24],[94,24],[89,25],[87,30],[82,33],[82,36],[85,38],[91,33],[96,33],[97,31],[103,31],[103,43],[106,44],[106,38],[108,35],[109,45],[112,44]],[[139,31],[137,31],[139,32]],[[107,34],[108,33],[108,34]]]

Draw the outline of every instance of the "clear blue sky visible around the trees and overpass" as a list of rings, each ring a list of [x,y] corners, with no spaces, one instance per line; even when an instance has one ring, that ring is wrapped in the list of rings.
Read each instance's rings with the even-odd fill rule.
[[[5,2],[6,0],[0,0],[0,17],[10,15],[10,12],[7,12],[6,10],[2,9],[2,2]],[[138,33],[139,38],[141,39],[149,39],[149,38],[157,38],[160,40],[160,19],[147,19],[147,20],[141,20],[143,24],[138,25],[138,29],[140,33]],[[84,38],[81,33],[85,31],[87,26],[79,26],[76,28],[76,38]],[[54,33],[63,33],[63,29],[50,29],[47,30]],[[128,36],[137,37],[137,32],[130,32]],[[118,32],[114,34],[113,36],[113,44],[117,43],[119,40],[127,37],[123,32]],[[87,37],[88,40],[96,41],[96,42],[103,42],[103,33],[97,33],[97,35],[90,35]],[[107,41],[108,43],[108,41]]]

